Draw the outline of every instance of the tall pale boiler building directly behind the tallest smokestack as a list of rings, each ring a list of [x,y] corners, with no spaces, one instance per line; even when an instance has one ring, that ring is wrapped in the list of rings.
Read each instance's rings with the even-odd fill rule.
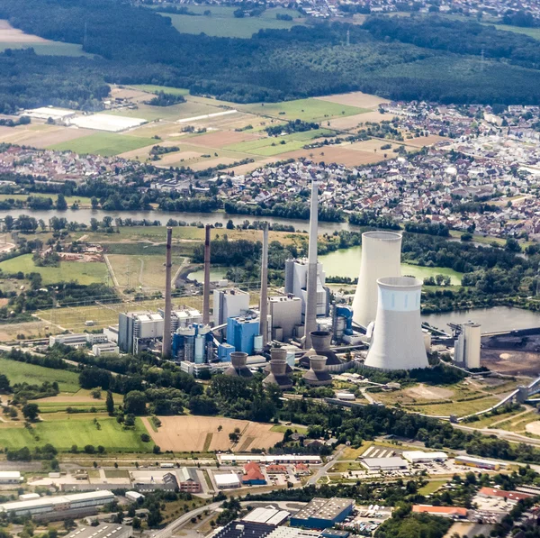
[[[317,263],[317,315],[329,315],[330,290],[325,286],[326,274],[322,269],[322,263]],[[302,319],[306,314],[308,289],[308,260],[285,261],[285,293],[300,297],[302,301]]]

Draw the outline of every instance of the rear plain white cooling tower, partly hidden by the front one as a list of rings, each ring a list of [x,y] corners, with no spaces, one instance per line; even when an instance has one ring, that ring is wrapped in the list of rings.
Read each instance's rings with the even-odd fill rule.
[[[362,261],[353,300],[353,321],[367,327],[377,314],[377,280],[401,276],[401,234],[362,234]]]

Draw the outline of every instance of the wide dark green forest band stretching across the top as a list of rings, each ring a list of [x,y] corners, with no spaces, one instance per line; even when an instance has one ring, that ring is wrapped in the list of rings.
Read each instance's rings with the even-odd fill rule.
[[[476,23],[374,17],[364,26],[318,23],[231,39],[181,34],[169,17],[114,0],[3,0],[0,18],[94,55],[6,50],[3,113],[38,105],[96,110],[110,83],[186,87],[238,103],[354,90],[443,103],[540,102],[538,41]]]

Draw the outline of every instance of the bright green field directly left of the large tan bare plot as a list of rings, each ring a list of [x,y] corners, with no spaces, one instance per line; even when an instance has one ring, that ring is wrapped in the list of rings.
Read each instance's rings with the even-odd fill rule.
[[[147,433],[138,418],[134,430],[122,430],[115,418],[98,417],[101,429],[94,424],[94,415],[68,417],[64,420],[45,421],[32,425],[32,432],[21,425],[0,424],[0,446],[19,449],[27,446],[32,449],[50,443],[59,451],[68,451],[76,444],[82,449],[86,444],[95,447],[100,444],[107,451],[146,452],[153,448],[152,442],[140,441],[140,434]]]

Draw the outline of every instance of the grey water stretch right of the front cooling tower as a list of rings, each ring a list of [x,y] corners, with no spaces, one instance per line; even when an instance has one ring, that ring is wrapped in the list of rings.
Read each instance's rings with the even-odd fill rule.
[[[498,333],[500,331],[540,327],[539,313],[509,306],[422,315],[423,322],[428,322],[428,324],[446,332],[449,332],[447,324],[463,324],[469,320],[481,324],[482,333]]]

